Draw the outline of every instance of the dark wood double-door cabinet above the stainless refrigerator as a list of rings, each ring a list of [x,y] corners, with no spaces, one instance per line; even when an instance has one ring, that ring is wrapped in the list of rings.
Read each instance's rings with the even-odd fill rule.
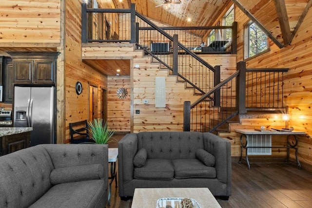
[[[8,52],[14,84],[55,84],[59,52]]]

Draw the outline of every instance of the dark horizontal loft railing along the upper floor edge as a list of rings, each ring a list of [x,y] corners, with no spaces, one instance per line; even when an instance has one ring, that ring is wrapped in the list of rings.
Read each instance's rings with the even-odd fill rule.
[[[165,40],[159,36],[154,27],[142,24],[141,19],[136,15],[139,16],[139,13],[135,11],[135,4],[131,4],[130,9],[94,9],[87,8],[87,4],[83,3],[82,42],[135,43],[137,41],[140,45],[150,49],[152,43]],[[135,22],[140,22],[137,28],[135,28]],[[178,35],[178,41],[194,53],[235,54],[236,24],[234,22],[232,26],[158,28],[171,37]],[[170,42],[168,43],[170,44]],[[170,49],[172,50],[172,48]]]

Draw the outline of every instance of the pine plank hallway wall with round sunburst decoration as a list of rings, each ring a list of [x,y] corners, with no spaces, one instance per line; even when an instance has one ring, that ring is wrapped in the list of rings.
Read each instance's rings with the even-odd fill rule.
[[[109,127],[116,132],[131,131],[130,86],[130,76],[107,77],[107,120],[109,123]],[[123,87],[128,91],[128,96],[124,99],[120,99],[117,97],[117,90],[120,87]]]

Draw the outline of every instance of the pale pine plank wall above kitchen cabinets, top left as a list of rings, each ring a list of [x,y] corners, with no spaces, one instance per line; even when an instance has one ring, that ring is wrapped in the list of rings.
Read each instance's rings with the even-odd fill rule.
[[[59,45],[60,0],[1,0],[0,14],[1,45]]]

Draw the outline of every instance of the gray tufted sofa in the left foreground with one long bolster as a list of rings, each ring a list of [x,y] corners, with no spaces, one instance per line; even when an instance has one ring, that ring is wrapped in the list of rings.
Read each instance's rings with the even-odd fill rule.
[[[108,145],[44,144],[0,157],[0,208],[103,208]]]

